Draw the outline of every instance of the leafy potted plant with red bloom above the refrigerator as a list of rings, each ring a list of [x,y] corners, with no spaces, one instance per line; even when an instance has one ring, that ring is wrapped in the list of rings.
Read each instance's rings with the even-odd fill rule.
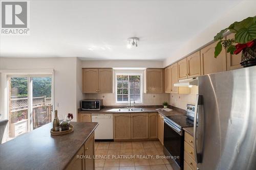
[[[235,34],[234,39],[223,40],[223,34],[227,31]],[[214,40],[219,41],[215,47],[215,58],[224,47],[230,54],[239,54],[242,51],[240,64],[244,67],[256,65],[256,16],[232,23],[228,28],[221,30]]]

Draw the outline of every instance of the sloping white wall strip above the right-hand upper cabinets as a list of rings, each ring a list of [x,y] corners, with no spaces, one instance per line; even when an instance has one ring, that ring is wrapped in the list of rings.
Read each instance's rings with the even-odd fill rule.
[[[177,49],[174,55],[166,56],[167,58],[164,60],[164,63],[163,63],[164,67],[196,51],[198,48],[205,45],[206,43],[209,43],[214,39],[214,36],[218,32],[220,32],[224,28],[227,28],[234,21],[240,21],[249,16],[255,16],[255,15],[256,15],[256,1],[242,1],[233,9],[230,9],[226,14],[221,16],[221,18],[216,20],[212,25],[210,25],[202,33],[196,35],[193,39],[187,41],[187,43],[182,45],[180,49]],[[188,28],[188,31],[189,31],[189,28]]]

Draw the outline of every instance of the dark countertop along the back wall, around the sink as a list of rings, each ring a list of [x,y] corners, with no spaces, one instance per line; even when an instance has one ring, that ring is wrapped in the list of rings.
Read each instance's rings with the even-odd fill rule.
[[[177,114],[185,114],[184,110],[182,109],[177,109],[175,110],[176,108],[172,108],[173,110],[172,111],[164,111],[164,110],[160,110],[159,108],[160,107],[143,107],[141,106],[140,108],[143,108],[144,111],[140,111],[140,112],[132,112],[132,111],[129,111],[129,112],[120,112],[118,111],[119,108],[118,106],[116,108],[103,108],[99,111],[82,111],[80,109],[78,109],[78,112],[79,113],[160,113],[162,114],[163,116],[168,116],[168,115],[177,115]],[[157,110],[156,110],[157,109]]]

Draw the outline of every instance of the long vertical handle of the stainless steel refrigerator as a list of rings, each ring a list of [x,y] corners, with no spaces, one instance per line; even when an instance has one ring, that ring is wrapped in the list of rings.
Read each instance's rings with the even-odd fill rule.
[[[201,160],[200,160],[200,154],[198,153],[197,151],[197,120],[198,120],[198,110],[199,110],[199,107],[200,105],[202,105],[202,98],[203,96],[200,95],[200,94],[197,94],[196,96],[196,105],[195,105],[195,118],[194,118],[194,152],[195,152],[195,160],[197,163],[200,163]]]

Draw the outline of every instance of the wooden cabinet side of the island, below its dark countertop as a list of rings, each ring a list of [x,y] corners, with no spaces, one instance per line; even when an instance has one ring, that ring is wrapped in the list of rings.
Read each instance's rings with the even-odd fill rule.
[[[86,155],[86,159],[78,159],[77,155]],[[89,156],[91,159],[89,159]],[[92,133],[87,139],[86,143],[82,145],[79,151],[72,158],[71,162],[68,164],[66,170],[94,170],[94,133]]]

